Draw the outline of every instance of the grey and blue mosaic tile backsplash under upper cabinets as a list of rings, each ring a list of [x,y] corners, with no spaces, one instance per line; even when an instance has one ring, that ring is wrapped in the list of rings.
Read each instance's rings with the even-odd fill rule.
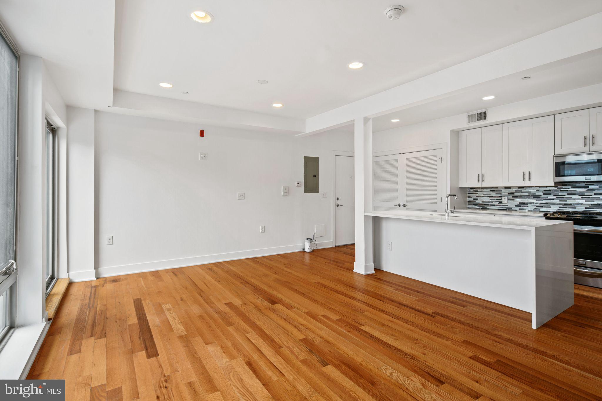
[[[602,183],[566,183],[559,186],[468,188],[470,209],[602,211]],[[502,203],[508,197],[508,203]]]

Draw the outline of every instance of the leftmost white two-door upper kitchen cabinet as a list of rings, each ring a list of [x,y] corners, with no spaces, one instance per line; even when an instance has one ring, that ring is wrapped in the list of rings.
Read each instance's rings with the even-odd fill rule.
[[[460,186],[502,186],[501,124],[460,134]]]

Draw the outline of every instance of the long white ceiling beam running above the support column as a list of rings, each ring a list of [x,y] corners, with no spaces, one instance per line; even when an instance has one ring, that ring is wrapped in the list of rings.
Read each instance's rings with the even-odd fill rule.
[[[297,136],[322,132],[356,117],[373,118],[431,102],[472,85],[598,49],[602,49],[602,13],[310,117],[305,120],[305,132]]]

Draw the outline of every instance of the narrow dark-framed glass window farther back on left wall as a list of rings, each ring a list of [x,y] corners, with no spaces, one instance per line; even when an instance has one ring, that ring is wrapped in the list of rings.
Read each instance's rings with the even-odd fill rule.
[[[55,194],[57,188],[57,129],[46,120],[46,295],[57,281]]]

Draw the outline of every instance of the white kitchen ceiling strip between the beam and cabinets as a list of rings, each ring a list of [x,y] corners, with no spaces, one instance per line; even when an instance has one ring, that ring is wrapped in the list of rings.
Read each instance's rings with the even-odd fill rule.
[[[523,76],[531,76],[531,79],[523,81]],[[374,132],[379,132],[600,83],[602,51],[580,55],[562,64],[541,66],[505,76],[466,88],[462,93],[382,115],[373,118],[372,127]],[[495,96],[495,99],[482,100],[490,95]],[[400,121],[391,122],[394,118],[399,118]],[[353,126],[346,126],[345,129],[353,130]]]

